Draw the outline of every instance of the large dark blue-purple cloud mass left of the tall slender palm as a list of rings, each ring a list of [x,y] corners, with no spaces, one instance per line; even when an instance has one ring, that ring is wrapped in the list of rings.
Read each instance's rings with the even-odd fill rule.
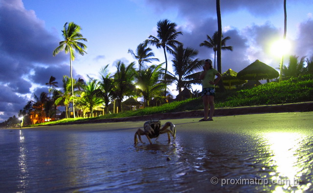
[[[45,85],[51,75],[62,82],[69,67],[57,66],[67,61],[68,55],[52,56],[60,40],[45,29],[45,23],[34,11],[25,10],[22,0],[1,0],[0,29],[2,122],[12,116],[12,112],[17,115],[27,103],[19,94],[29,94],[31,83]]]

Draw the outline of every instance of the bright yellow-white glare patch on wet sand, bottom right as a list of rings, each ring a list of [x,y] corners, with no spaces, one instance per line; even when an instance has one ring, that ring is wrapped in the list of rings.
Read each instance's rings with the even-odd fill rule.
[[[271,172],[271,179],[282,182],[275,191],[307,191],[312,186],[312,175],[306,176],[312,168],[312,148],[308,151],[310,136],[293,132],[266,133],[269,151],[272,152],[272,165],[275,172]],[[305,151],[303,151],[305,149]],[[304,154],[303,154],[304,153]],[[305,159],[305,160],[304,160]]]

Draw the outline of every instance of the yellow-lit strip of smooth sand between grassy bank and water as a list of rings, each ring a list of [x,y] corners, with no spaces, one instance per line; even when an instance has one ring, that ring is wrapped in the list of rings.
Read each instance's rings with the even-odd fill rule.
[[[156,118],[156,117],[155,117]],[[236,130],[253,132],[253,130],[311,130],[313,124],[313,112],[292,112],[292,113],[267,113],[214,117],[214,121],[200,121],[200,118],[187,119],[164,119],[160,120],[161,125],[171,121],[179,131],[221,131],[236,132]],[[149,121],[149,120],[146,120]],[[68,124],[39,126],[23,129],[43,129],[43,130],[79,130],[79,131],[105,131],[105,130],[130,130],[134,131],[143,128],[145,121],[121,121],[107,123],[90,124]]]

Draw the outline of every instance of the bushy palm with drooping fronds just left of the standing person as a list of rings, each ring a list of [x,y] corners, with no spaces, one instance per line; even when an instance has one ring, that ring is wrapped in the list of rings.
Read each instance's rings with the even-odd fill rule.
[[[199,71],[203,61],[195,59],[198,55],[198,50],[193,48],[183,48],[179,45],[173,53],[173,71],[175,75],[170,76],[176,82],[177,91],[181,92],[182,88],[191,88],[191,84],[199,84]]]

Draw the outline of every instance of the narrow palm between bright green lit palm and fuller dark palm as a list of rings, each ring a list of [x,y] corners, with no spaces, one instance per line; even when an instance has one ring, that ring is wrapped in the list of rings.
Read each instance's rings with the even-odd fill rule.
[[[114,98],[114,79],[111,73],[108,72],[109,65],[106,65],[100,70],[101,79],[99,87],[101,90],[100,97],[104,100],[106,114],[109,113],[109,102]]]

